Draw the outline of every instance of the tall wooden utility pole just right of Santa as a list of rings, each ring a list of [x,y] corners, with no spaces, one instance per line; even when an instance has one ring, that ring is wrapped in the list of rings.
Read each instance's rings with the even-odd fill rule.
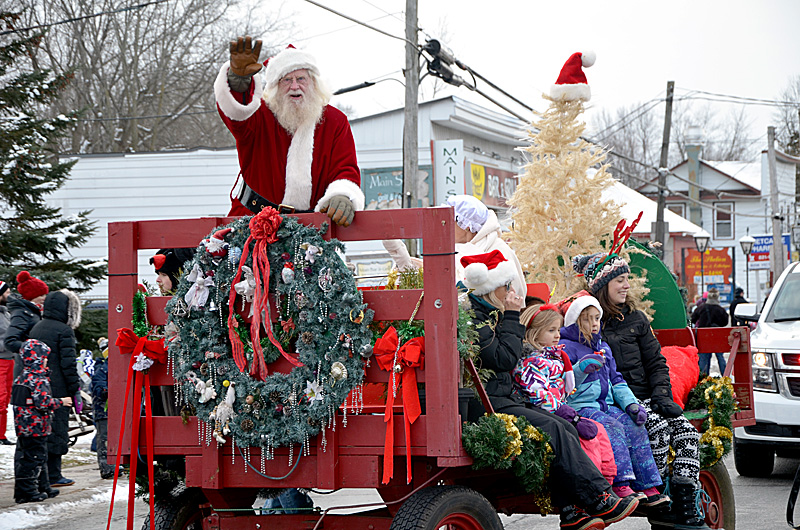
[[[403,208],[417,206],[417,129],[419,120],[419,50],[417,49],[417,0],[406,0],[406,103],[403,112]],[[409,253],[416,256],[417,241]]]

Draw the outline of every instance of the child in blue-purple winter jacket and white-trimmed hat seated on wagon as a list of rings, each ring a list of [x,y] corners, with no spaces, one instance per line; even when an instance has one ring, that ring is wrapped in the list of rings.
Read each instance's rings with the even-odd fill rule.
[[[575,368],[575,392],[567,397],[567,403],[606,428],[617,464],[614,492],[621,497],[641,492],[643,495],[637,496],[643,507],[668,503],[669,497],[656,489],[661,476],[644,428],[647,413],[600,338],[600,302],[586,293],[563,307],[560,343]]]

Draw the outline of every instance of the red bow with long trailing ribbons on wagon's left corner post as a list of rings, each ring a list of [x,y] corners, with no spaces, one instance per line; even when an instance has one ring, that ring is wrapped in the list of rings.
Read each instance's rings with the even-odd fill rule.
[[[128,363],[128,379],[125,383],[125,404],[122,406],[122,419],[119,428],[119,445],[117,446],[117,459],[114,465],[114,484],[111,486],[111,505],[108,509],[108,524],[106,530],[111,528],[111,515],[114,513],[114,492],[117,489],[117,479],[119,478],[119,461],[122,456],[122,441],[125,436],[125,416],[128,411],[128,396],[130,396],[131,383],[133,383],[133,418],[131,421],[131,452],[139,450],[139,423],[142,416],[142,390],[144,390],[145,406],[145,439],[147,440],[147,476],[150,479],[150,530],[155,530],[155,510],[153,504],[153,411],[150,404],[150,374],[134,370],[140,354],[152,359],[155,362],[166,364],[167,352],[164,349],[163,340],[148,340],[147,337],[139,337],[129,328],[117,330],[117,340],[122,354],[130,354],[131,360]],[[136,464],[139,461],[137,456],[131,458],[131,469],[128,482],[128,530],[133,529],[133,505],[134,493],[136,492]]]

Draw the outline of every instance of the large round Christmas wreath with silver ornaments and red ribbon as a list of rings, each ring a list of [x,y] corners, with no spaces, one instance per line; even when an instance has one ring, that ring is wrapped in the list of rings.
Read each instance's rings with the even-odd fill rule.
[[[343,404],[344,425],[358,411],[373,313],[326,231],[265,209],[209,234],[184,267],[165,336],[201,443],[230,437],[262,457],[279,446],[291,455],[320,432],[325,447]],[[271,369],[281,357],[289,373]]]

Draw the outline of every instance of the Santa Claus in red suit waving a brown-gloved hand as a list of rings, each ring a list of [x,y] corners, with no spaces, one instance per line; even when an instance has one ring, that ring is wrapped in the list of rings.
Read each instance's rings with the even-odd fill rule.
[[[230,52],[214,83],[242,177],[228,215],[271,206],[282,213],[326,212],[348,226],[364,208],[355,142],[347,117],[328,105],[331,93],[315,59],[290,46],[265,63],[263,88],[255,76],[261,41],[239,37]]]

